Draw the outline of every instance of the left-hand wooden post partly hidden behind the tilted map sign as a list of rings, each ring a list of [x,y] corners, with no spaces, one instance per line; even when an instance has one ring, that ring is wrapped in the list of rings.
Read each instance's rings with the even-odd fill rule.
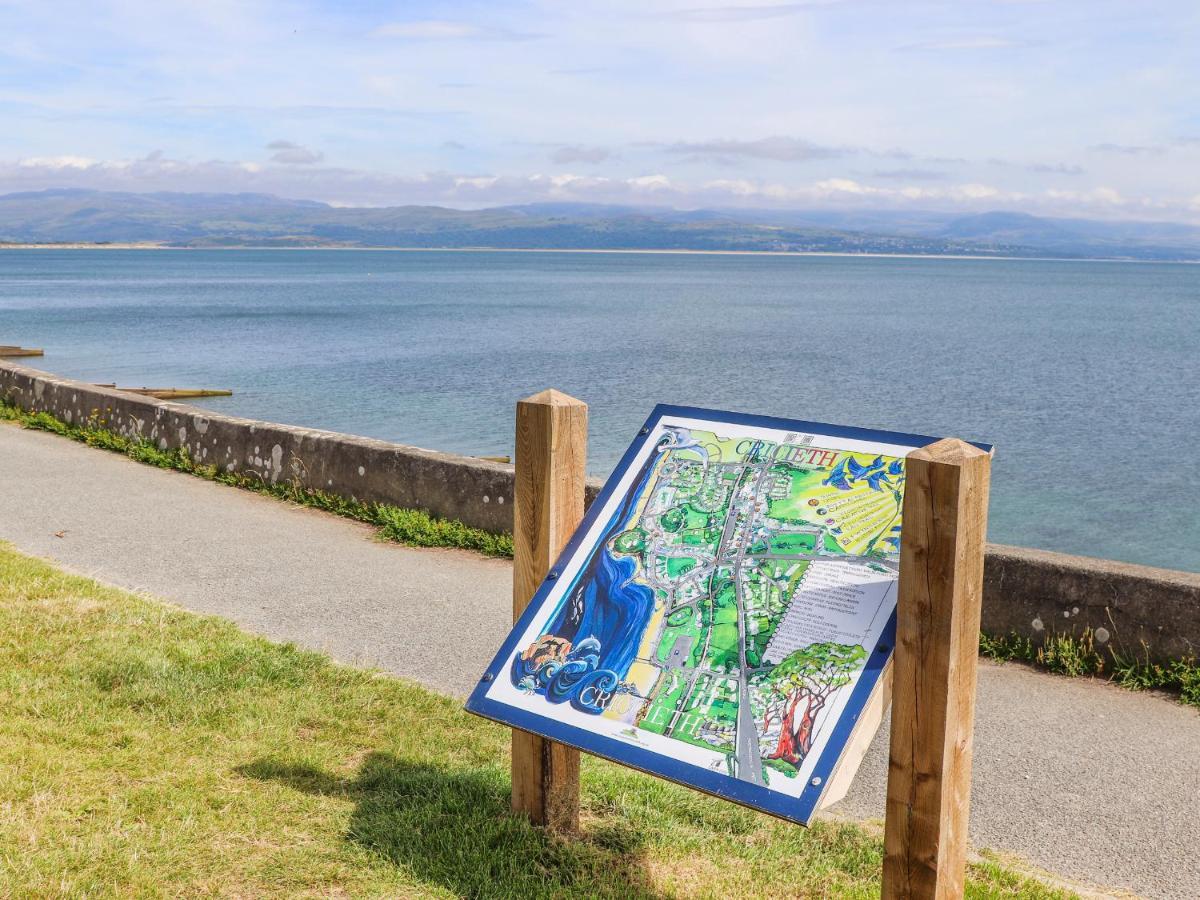
[[[517,403],[512,620],[524,612],[583,518],[588,407],[556,390]],[[580,751],[512,730],[512,810],[578,830]]]

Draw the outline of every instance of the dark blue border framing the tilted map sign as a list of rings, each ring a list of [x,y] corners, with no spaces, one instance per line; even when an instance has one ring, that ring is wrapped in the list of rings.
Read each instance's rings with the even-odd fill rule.
[[[866,702],[871,696],[871,691],[875,690],[875,685],[880,680],[880,676],[883,673],[883,667],[892,658],[892,649],[895,646],[895,612],[892,613],[892,617],[888,619],[888,624],[884,626],[880,636],[878,643],[872,648],[870,655],[868,656],[863,672],[858,678],[858,683],[854,685],[854,690],[851,694],[841,716],[834,725],[834,730],[826,743],[824,751],[818,757],[816,767],[809,776],[809,784],[805,785],[804,791],[799,797],[788,797],[778,791],[772,791],[769,787],[763,785],[755,785],[749,781],[736,779],[732,775],[703,769],[691,763],[684,763],[665,756],[664,754],[625,743],[618,738],[598,734],[574,725],[560,722],[551,716],[539,715],[538,713],[529,712],[528,709],[521,709],[508,703],[490,700],[486,696],[492,683],[497,678],[502,678],[508,671],[512,656],[517,652],[517,644],[521,641],[521,636],[526,632],[533,619],[541,611],[541,607],[546,602],[551,590],[553,590],[557,584],[559,572],[563,571],[571,557],[580,551],[583,539],[587,536],[588,532],[592,530],[592,526],[595,524],[595,521],[599,518],[605,504],[607,504],[613,493],[617,491],[617,486],[620,484],[622,476],[630,468],[630,466],[632,466],[638,451],[654,433],[654,428],[659,421],[667,416],[703,419],[713,422],[725,422],[731,425],[748,425],[754,427],[776,428],[781,431],[815,433],[830,438],[850,438],[853,440],[866,440],[883,444],[904,444],[913,448],[925,446],[928,444],[932,444],[935,440],[938,440],[938,438],[925,434],[907,434],[904,432],[877,431],[874,428],[856,428],[842,425],[809,422],[798,419],[780,419],[769,415],[750,415],[745,413],[730,413],[716,409],[678,407],[660,403],[654,407],[654,410],[646,420],[646,424],[642,426],[638,436],[634,439],[634,443],[630,444],[625,455],[620,458],[620,462],[617,463],[617,467],[605,482],[604,488],[588,508],[588,511],[583,516],[583,521],[580,523],[580,527],[575,530],[574,536],[568,542],[566,547],[563,548],[563,552],[551,568],[546,580],[542,581],[538,592],[526,607],[526,611],[522,613],[521,619],[512,626],[512,630],[505,638],[504,644],[496,654],[496,658],[485,671],[482,678],[480,678],[479,684],[475,686],[475,690],[467,701],[466,708],[468,712],[486,719],[493,719],[503,722],[504,725],[511,725],[516,728],[530,731],[562,744],[569,744],[578,748],[580,750],[586,750],[589,754],[622,763],[623,766],[629,766],[652,775],[659,775],[686,787],[694,787],[698,791],[703,791],[704,793],[721,797],[726,800],[733,800],[734,803],[739,803],[744,806],[750,806],[752,809],[779,816],[780,818],[786,818],[791,822],[808,826],[812,821],[812,816],[821,802],[821,796],[824,793],[829,778],[833,775],[834,767],[838,764],[838,760],[841,757],[841,752],[845,749],[846,743],[850,740],[854,725],[858,721],[858,718],[863,714],[863,708],[866,706]],[[980,450],[991,452],[990,444],[980,444],[976,442],[971,443]],[[901,535],[901,540],[902,539],[904,538]]]

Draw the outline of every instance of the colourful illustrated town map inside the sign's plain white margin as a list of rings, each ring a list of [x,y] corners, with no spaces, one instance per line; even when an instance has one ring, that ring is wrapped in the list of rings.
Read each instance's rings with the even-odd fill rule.
[[[894,608],[904,460],[709,427],[665,430],[509,676],[775,787]]]

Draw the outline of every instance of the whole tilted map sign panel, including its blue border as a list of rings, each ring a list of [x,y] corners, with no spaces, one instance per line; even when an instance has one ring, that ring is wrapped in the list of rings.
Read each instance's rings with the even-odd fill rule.
[[[889,658],[931,440],[660,407],[468,708],[806,823]]]

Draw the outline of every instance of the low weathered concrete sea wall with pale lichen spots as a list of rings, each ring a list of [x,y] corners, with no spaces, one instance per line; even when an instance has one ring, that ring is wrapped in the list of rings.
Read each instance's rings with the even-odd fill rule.
[[[512,467],[374,438],[239,419],[96,388],[0,360],[0,397],[29,412],[142,437],[266,481],[512,529]],[[514,401],[515,403],[515,401]],[[587,503],[601,481],[589,479]],[[1200,656],[1200,575],[989,545],[983,628],[1042,642],[1092,635],[1153,661]]]

